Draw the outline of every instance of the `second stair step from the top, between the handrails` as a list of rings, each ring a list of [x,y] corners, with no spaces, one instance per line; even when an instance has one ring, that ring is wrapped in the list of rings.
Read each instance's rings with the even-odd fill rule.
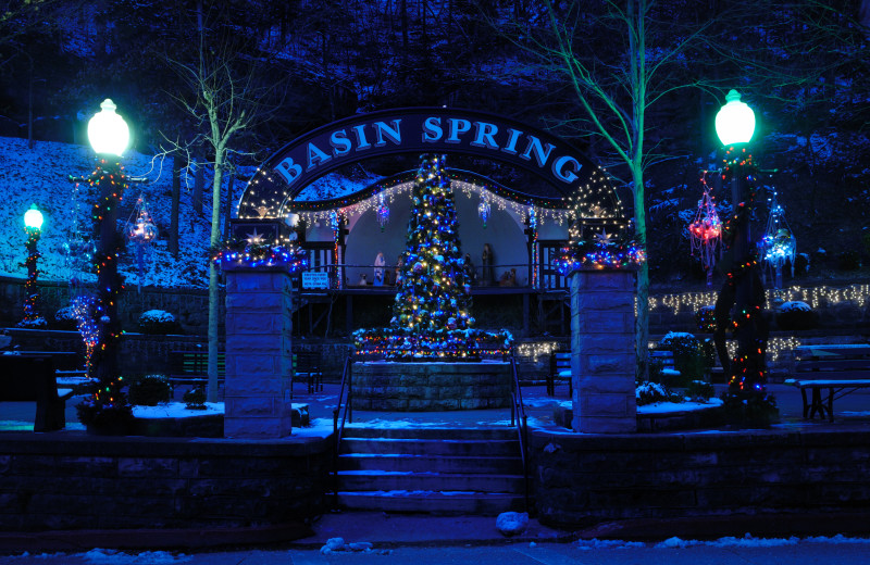
[[[343,438],[341,453],[517,456],[520,453],[520,441],[517,438],[488,440]]]

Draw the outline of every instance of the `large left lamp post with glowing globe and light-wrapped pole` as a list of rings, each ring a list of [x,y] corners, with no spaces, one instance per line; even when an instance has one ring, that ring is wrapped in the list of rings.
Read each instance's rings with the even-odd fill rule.
[[[117,300],[122,279],[117,274],[121,239],[116,224],[119,204],[127,183],[120,158],[129,145],[129,128],[124,118],[115,113],[116,106],[110,99],[107,98],[100,109],[88,122],[88,140],[97,153],[97,170],[90,181],[100,188],[100,199],[92,211],[100,239],[95,258],[97,304],[94,314],[99,337],[91,367],[94,376],[100,382],[105,382],[113,381],[117,376],[117,348],[121,340]]]

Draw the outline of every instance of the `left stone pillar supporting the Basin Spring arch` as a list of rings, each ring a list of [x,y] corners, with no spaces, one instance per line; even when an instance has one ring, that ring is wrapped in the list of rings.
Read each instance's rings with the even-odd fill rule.
[[[226,272],[224,436],[289,436],[293,389],[291,292],[286,268]]]

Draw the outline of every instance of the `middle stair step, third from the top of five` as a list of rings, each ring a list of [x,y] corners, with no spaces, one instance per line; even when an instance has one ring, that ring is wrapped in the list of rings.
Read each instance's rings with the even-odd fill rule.
[[[348,453],[338,456],[338,470],[437,472],[443,474],[522,475],[519,456],[453,456]]]

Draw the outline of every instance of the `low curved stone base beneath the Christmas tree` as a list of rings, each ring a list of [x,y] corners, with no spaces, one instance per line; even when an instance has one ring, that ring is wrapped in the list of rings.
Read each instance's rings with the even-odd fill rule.
[[[510,363],[353,364],[355,410],[430,412],[508,406]]]

